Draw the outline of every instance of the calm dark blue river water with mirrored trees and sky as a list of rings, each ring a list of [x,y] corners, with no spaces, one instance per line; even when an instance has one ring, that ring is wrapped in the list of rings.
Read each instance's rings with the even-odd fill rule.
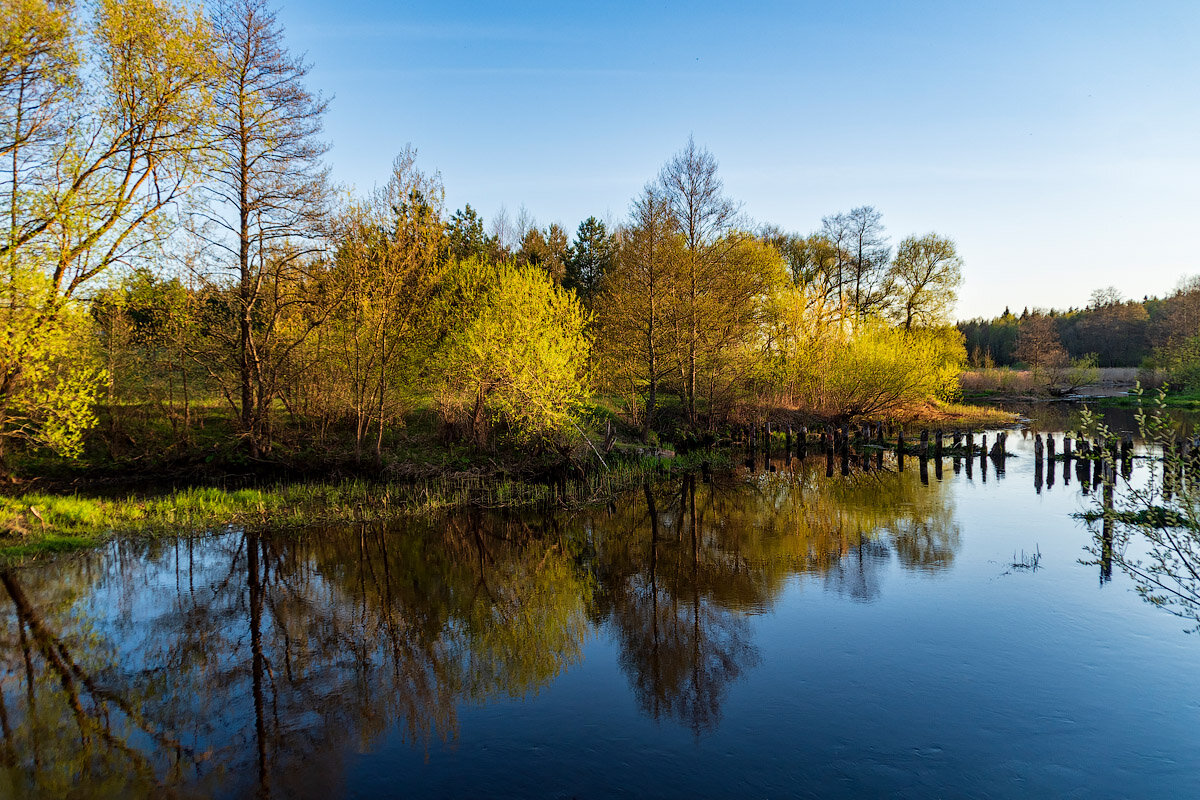
[[[1200,639],[1031,446],[5,573],[0,795],[1200,796]]]

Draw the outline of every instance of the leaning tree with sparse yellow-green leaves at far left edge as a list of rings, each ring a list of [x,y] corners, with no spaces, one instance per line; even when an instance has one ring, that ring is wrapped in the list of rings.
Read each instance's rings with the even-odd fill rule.
[[[84,290],[162,235],[197,179],[212,68],[203,14],[172,0],[19,0],[0,14],[0,449],[78,455],[102,374]]]

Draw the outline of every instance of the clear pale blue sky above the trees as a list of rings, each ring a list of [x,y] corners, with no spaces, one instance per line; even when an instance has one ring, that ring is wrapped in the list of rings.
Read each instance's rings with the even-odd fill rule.
[[[694,134],[758,222],[953,237],[960,317],[1200,272],[1200,1],[282,0],[330,161],[406,143],[450,209],[622,219]]]

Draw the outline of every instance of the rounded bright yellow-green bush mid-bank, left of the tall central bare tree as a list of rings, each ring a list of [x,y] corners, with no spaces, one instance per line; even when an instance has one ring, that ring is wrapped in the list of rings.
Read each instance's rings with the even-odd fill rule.
[[[440,355],[444,404],[470,419],[480,441],[486,421],[518,438],[564,432],[589,393],[588,314],[536,266],[504,265],[493,276]]]

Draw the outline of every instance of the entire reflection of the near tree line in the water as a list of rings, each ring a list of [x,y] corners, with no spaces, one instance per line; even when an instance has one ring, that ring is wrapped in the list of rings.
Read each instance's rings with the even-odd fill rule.
[[[536,693],[599,626],[638,706],[701,735],[788,579],[871,600],[890,554],[954,558],[938,485],[822,467],[574,516],[120,542],[4,572],[0,795],[336,794],[354,751],[401,735],[428,753],[463,705]]]

